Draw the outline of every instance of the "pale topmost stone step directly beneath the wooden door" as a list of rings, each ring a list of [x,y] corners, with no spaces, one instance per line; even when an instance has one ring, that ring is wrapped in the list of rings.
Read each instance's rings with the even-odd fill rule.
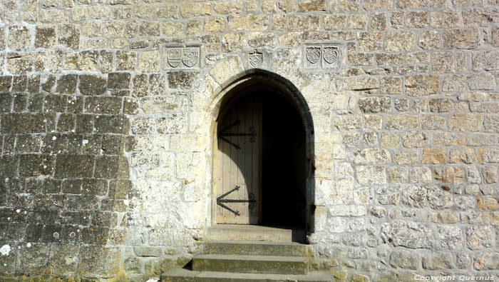
[[[304,230],[292,227],[217,224],[207,228],[207,241],[303,241]]]

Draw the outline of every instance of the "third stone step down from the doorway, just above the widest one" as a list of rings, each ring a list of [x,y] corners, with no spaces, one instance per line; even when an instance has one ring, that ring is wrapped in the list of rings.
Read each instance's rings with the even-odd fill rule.
[[[193,271],[307,274],[308,258],[297,256],[200,255],[192,258]]]

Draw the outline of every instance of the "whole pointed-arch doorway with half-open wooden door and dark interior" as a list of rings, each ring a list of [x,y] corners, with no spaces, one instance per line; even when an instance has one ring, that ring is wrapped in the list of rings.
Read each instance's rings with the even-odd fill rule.
[[[272,78],[249,75],[220,103],[214,223],[302,229],[309,223],[312,120],[299,93]]]

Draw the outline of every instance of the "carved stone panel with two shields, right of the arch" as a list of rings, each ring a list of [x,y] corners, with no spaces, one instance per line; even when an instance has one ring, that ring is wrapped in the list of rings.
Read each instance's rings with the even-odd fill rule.
[[[304,64],[306,69],[338,69],[339,44],[306,44]]]

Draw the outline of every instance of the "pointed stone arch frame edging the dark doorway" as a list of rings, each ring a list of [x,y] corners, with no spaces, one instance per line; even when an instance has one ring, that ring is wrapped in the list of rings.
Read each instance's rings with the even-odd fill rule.
[[[250,69],[244,74],[237,74],[234,79],[231,79],[227,84],[222,85],[215,99],[212,100],[210,109],[212,109],[212,123],[210,125],[210,136],[212,137],[212,185],[211,185],[211,225],[216,224],[215,208],[216,203],[216,185],[215,183],[215,156],[217,154],[217,119],[220,116],[220,111],[225,107],[230,106],[232,101],[237,100],[237,96],[242,95],[245,89],[254,86],[266,86],[275,89],[279,94],[286,97],[289,102],[297,109],[305,129],[306,141],[306,178],[307,178],[307,234],[313,228],[313,213],[314,213],[314,124],[312,114],[310,113],[307,101],[294,84],[278,74],[262,69]]]

